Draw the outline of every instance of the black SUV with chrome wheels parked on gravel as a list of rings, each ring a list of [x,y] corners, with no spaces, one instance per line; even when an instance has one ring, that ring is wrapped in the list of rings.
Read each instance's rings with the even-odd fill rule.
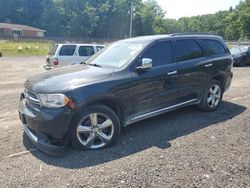
[[[223,39],[205,34],[115,42],[80,65],[28,79],[19,116],[33,144],[59,154],[113,145],[122,127],[177,108],[216,110],[232,80]]]

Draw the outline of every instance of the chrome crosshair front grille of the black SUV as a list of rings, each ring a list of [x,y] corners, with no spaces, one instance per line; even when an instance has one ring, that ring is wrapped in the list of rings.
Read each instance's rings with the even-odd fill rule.
[[[38,95],[36,93],[25,89],[24,90],[24,97],[25,97],[25,101],[26,101],[26,106],[28,108],[30,108],[30,110],[35,111],[35,112],[40,111],[41,103],[40,103],[40,100],[39,100]]]

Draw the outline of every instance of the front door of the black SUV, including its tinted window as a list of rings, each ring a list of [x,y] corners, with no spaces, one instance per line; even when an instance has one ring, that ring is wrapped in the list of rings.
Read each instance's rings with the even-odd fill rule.
[[[176,104],[177,66],[173,63],[171,41],[150,46],[140,57],[153,60],[153,67],[133,76],[134,114],[141,115]],[[140,61],[139,60],[139,61]]]

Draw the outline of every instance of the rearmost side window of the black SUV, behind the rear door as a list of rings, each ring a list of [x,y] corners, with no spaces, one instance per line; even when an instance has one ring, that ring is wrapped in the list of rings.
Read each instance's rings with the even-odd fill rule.
[[[218,41],[202,39],[202,42],[206,46],[209,55],[220,55],[227,53],[224,46]]]

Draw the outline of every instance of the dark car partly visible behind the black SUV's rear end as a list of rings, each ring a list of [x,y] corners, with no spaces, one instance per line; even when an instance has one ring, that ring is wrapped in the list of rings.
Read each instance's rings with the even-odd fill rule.
[[[250,47],[234,46],[230,49],[235,66],[245,66],[250,64]]]

